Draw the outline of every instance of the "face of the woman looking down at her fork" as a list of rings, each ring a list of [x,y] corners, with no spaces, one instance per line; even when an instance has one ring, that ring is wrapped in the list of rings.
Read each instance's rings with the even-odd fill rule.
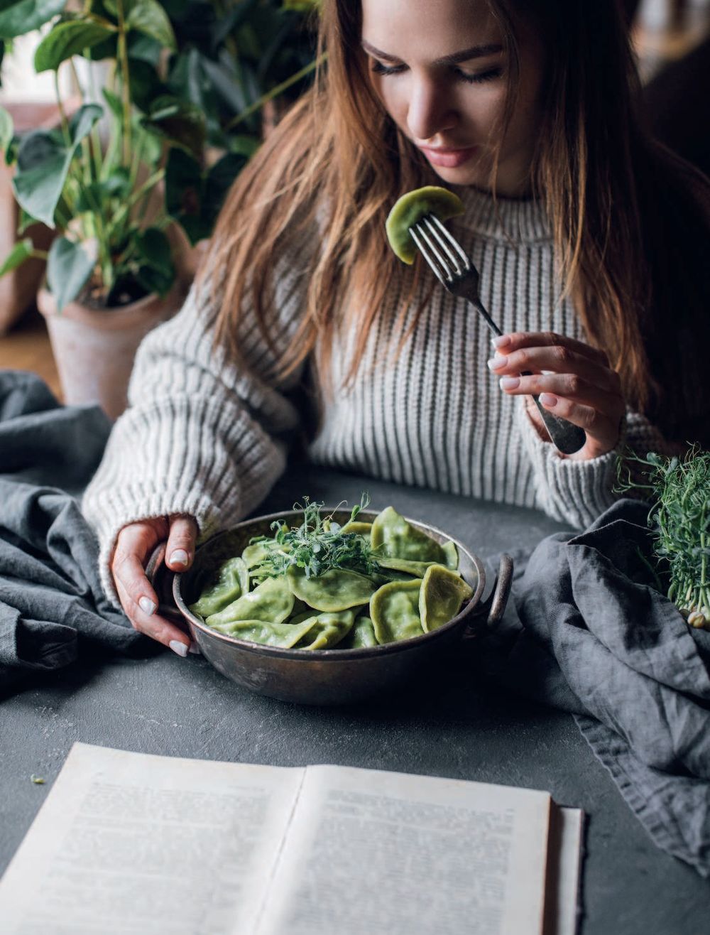
[[[502,140],[497,191],[529,188],[540,43],[518,36],[520,88]],[[362,0],[362,47],[392,120],[453,185],[488,187],[507,88],[503,36],[484,0]]]

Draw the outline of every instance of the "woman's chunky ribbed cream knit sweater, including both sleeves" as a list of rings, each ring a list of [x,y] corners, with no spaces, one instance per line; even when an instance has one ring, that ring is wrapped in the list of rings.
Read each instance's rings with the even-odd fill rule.
[[[547,220],[532,201],[461,189],[465,214],[451,230],[481,276],[481,298],[504,332],[552,330],[584,339],[575,312],[558,300]],[[277,341],[287,344],[302,309],[303,260],[277,265]],[[102,580],[121,526],[190,513],[204,539],[233,525],[266,496],[286,463],[299,423],[288,398],[298,375],[274,388],[259,378],[272,353],[253,322],[241,347],[251,375],[213,352],[206,295],[192,288],[184,307],[143,341],[104,460],[83,499],[98,535]],[[310,447],[314,462],[395,482],[538,507],[574,526],[589,524],[614,499],[617,452],[563,459],[539,438],[522,397],[505,396],[486,365],[490,333],[476,310],[437,284],[419,324],[395,359],[384,353],[398,296],[382,309],[354,386],[348,340],[334,347],[334,392]],[[410,313],[414,313],[414,309]],[[626,440],[637,451],[663,448],[658,432],[628,413]],[[304,491],[307,494],[307,491]],[[396,504],[395,504],[396,506]]]

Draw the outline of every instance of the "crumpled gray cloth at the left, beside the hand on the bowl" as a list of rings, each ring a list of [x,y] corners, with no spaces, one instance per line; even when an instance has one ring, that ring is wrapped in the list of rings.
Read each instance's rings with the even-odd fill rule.
[[[111,424],[96,407],[60,406],[45,383],[0,371],[0,692],[96,648],[141,637],[105,597],[98,544],[77,496]]]

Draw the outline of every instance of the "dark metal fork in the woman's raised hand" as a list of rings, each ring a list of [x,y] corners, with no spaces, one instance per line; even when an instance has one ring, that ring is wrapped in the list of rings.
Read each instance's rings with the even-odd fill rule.
[[[447,292],[467,299],[483,316],[493,334],[502,335],[503,332],[481,302],[476,266],[459,241],[449,234],[444,224],[433,214],[425,214],[409,228],[409,233]],[[523,370],[520,376],[530,377],[532,373],[530,370]],[[563,454],[578,452],[587,440],[584,429],[548,412],[540,402],[539,396],[533,394],[533,401],[555,447]]]

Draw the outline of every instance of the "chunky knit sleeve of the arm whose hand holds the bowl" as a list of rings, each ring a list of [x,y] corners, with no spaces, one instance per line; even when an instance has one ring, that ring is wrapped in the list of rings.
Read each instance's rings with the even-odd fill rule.
[[[283,471],[298,424],[287,392],[298,374],[277,388],[262,375],[299,323],[305,275],[285,266],[275,281],[277,348],[266,345],[248,314],[239,336],[248,368],[213,348],[207,285],[193,284],[178,314],[140,345],[129,408],[114,425],[82,501],[112,600],[118,598],[109,563],[122,526],[186,513],[206,539],[257,507]]]

